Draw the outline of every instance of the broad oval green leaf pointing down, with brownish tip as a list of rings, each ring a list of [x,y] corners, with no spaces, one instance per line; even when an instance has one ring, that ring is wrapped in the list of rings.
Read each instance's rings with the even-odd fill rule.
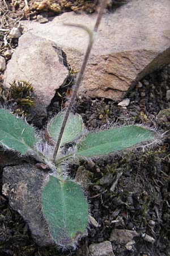
[[[79,184],[49,176],[41,191],[41,205],[54,242],[70,246],[82,236],[88,221],[88,205]]]

